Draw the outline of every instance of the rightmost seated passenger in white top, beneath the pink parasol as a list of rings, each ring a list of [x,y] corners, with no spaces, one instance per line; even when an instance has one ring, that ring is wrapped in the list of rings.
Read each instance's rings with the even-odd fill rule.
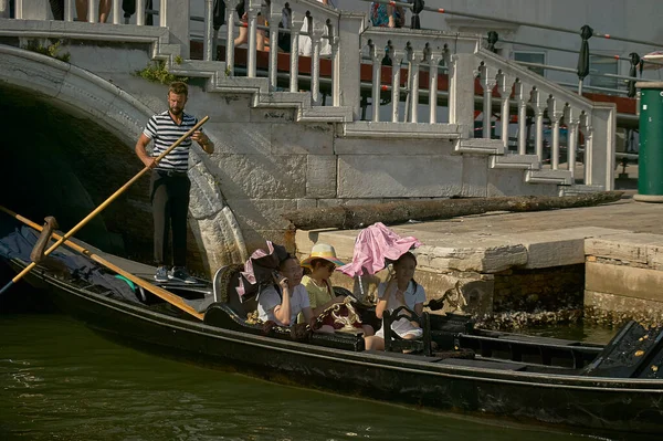
[[[423,287],[414,282],[414,270],[417,258],[411,252],[401,255],[393,263],[393,274],[378,285],[378,305],[376,316],[382,318],[385,309],[393,312],[400,306],[407,306],[415,314],[423,313],[425,292]],[[391,329],[401,338],[414,339],[423,335],[423,329],[417,322],[401,318],[391,324]],[[366,338],[366,349],[385,350],[385,329],[380,328],[372,337]]]

